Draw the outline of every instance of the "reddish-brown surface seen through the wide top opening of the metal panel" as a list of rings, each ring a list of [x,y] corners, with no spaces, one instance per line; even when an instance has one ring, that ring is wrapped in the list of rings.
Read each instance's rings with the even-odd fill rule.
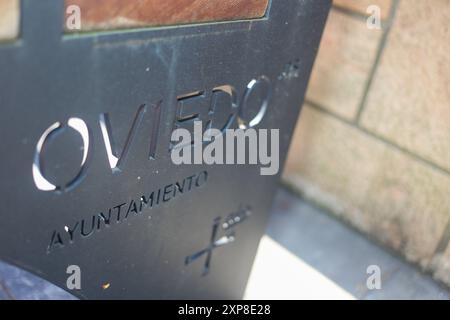
[[[66,7],[80,7],[83,31],[260,18],[264,16],[268,2],[269,0],[65,0]]]

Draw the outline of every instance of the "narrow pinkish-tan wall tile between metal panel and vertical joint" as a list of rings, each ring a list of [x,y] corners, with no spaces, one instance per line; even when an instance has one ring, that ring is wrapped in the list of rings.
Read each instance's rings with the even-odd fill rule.
[[[381,30],[369,30],[364,20],[331,10],[307,98],[354,119],[381,35]]]

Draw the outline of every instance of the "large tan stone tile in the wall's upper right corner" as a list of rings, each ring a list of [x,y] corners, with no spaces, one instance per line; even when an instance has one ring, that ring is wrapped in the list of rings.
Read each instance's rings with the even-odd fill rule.
[[[447,0],[400,2],[362,114],[368,130],[448,170],[449,21]]]

